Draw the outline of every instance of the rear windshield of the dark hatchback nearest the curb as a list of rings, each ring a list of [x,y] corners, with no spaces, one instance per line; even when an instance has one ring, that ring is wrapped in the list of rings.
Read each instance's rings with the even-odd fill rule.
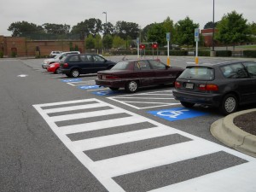
[[[179,79],[212,80],[213,69],[210,67],[187,67]]]

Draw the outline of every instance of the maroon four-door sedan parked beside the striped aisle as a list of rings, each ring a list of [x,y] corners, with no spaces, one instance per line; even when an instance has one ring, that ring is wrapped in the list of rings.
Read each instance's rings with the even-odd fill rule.
[[[173,84],[182,72],[183,68],[169,67],[159,60],[119,61],[110,70],[98,72],[95,81],[110,90],[125,88],[133,93],[143,86]]]

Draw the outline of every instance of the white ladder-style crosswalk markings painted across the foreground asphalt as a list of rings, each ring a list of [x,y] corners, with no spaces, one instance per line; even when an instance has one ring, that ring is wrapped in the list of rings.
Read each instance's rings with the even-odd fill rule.
[[[57,137],[61,139],[67,148],[81,161],[81,163],[90,170],[90,172],[105,186],[108,191],[125,191],[125,189],[117,183],[113,177],[123,176],[125,174],[130,174],[134,172],[143,172],[150,168],[172,165],[173,163],[181,162],[183,160],[189,160],[197,158],[206,154],[214,154],[219,151],[224,151],[227,154],[235,155],[241,160],[248,161],[241,165],[232,166],[228,169],[220,170],[219,172],[214,172],[211,174],[206,174],[201,177],[196,177],[183,181],[182,183],[174,183],[171,185],[161,186],[158,189],[152,189],[154,191],[210,191],[212,189],[212,183],[217,185],[214,189],[216,191],[225,191],[224,188],[220,189],[218,187],[223,185],[223,181],[226,178],[232,178],[236,180],[235,185],[240,185],[241,191],[253,191],[256,189],[256,184],[253,181],[253,177],[256,177],[255,172],[249,172],[249,167],[255,171],[256,162],[255,159],[249,157],[245,154],[241,154],[232,150],[230,148],[225,148],[216,143],[211,143],[200,137],[195,137],[186,132],[179,131],[172,127],[162,125],[154,120],[145,118],[136,113],[131,113],[125,109],[115,107],[107,102],[102,102],[97,99],[85,99],[70,102],[55,102],[33,105],[34,108],[38,110],[38,113],[42,115],[45,121],[48,123],[49,127],[55,132]],[[95,110],[96,108],[108,107],[109,109]],[[86,110],[90,111],[86,112]],[[79,110],[79,113],[78,111]],[[82,111],[81,111],[82,110]],[[83,111],[85,110],[85,111]],[[67,112],[65,114],[65,112]],[[54,113],[60,113],[51,115]],[[100,118],[106,115],[118,115],[119,113],[125,113],[127,117],[117,117],[114,119],[100,119],[86,121],[91,118]],[[61,121],[73,121],[84,119],[85,122],[80,122],[79,124],[73,125],[62,125],[59,126],[58,123]],[[90,137],[86,139],[79,139],[72,141],[69,134],[82,134],[90,131],[106,131],[113,127],[119,127],[123,125],[135,125],[137,123],[148,122],[153,127],[148,127],[141,130],[135,131],[125,131],[119,133],[113,133],[110,135],[102,135],[100,137]],[[147,139],[157,139],[164,136],[172,135],[182,136],[188,138],[188,141],[174,144],[166,144],[166,146],[160,146],[157,148],[150,148],[143,151],[138,151],[136,153],[125,154],[114,156],[112,158],[106,158],[101,160],[92,160],[90,155],[86,152],[90,150],[97,150],[101,148],[112,148],[119,145],[143,142]],[[99,154],[101,155],[101,154]],[[247,167],[247,169],[242,170],[239,167]],[[243,175],[243,179],[239,180],[239,175]],[[220,177],[216,175],[223,176],[223,181],[219,181]],[[247,174],[246,174],[247,173]],[[206,178],[210,178],[212,182],[203,183]],[[195,183],[193,181],[195,181]],[[191,189],[189,184],[195,186]],[[201,186],[196,186],[196,183],[203,183]],[[247,187],[249,186],[249,187]],[[234,188],[234,187],[233,187]],[[213,190],[211,190],[213,191]],[[238,189],[232,189],[231,191],[240,191]]]

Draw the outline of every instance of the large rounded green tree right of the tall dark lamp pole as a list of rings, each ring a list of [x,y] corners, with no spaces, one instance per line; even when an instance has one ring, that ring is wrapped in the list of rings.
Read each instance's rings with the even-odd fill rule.
[[[218,23],[218,32],[216,32],[215,39],[223,44],[244,43],[249,40],[248,34],[250,34],[247,20],[245,20],[242,14],[237,14],[236,11],[232,11],[230,14],[224,15]]]

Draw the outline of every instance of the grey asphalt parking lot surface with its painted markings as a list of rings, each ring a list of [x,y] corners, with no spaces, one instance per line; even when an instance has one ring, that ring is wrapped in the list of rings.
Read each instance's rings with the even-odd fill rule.
[[[108,59],[120,61],[121,56]],[[160,60],[166,62],[165,57]],[[200,59],[200,63],[219,61]],[[62,191],[255,191],[255,159],[226,148],[209,131],[215,120],[224,117],[216,108],[183,108],[173,98],[170,84],[127,94],[97,86],[96,74],[71,79],[47,73],[41,62],[0,61],[6,90],[1,92],[6,98],[2,110],[17,122],[10,124],[6,114],[1,117],[3,134],[9,138],[2,140],[9,147],[1,148],[6,154],[1,170],[15,174],[13,164],[20,162],[17,169],[26,176],[20,173],[17,183],[23,189],[38,183],[32,179],[35,174],[44,183],[35,191],[45,186],[52,191],[60,186]],[[193,57],[171,57],[173,66],[193,64]],[[23,154],[12,154],[10,163],[7,154],[14,148]],[[35,161],[41,168],[31,172],[29,165]],[[8,189],[11,179],[4,181],[3,189]]]

